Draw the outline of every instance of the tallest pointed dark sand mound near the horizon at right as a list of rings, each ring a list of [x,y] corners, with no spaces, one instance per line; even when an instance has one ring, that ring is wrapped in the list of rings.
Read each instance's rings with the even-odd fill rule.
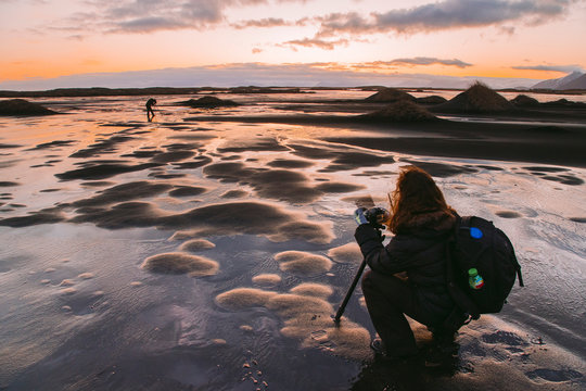
[[[482,83],[476,83],[449,101],[438,104],[437,110],[462,113],[497,113],[513,110],[505,97],[498,94]]]

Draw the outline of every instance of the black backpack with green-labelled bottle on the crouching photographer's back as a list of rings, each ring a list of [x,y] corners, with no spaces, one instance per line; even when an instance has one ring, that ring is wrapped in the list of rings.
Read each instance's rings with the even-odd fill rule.
[[[481,314],[500,312],[517,277],[524,286],[511,241],[487,219],[458,217],[447,252],[447,287],[459,313],[468,319],[460,316],[462,324]],[[470,276],[473,269],[479,277]]]

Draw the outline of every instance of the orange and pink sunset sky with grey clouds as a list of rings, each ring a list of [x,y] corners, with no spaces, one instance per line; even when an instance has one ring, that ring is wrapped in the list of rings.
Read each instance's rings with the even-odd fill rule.
[[[0,89],[527,87],[585,37],[586,0],[0,0]]]

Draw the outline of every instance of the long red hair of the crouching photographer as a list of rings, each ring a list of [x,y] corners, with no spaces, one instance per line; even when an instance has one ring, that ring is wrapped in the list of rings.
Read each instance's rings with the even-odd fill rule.
[[[425,171],[416,167],[402,167],[395,191],[388,197],[391,202],[391,219],[388,229],[393,234],[407,227],[417,216],[445,212],[454,215],[456,212],[446,203],[442,190]]]

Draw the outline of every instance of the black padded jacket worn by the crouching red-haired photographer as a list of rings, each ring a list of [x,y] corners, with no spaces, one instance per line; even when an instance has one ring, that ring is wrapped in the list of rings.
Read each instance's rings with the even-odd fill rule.
[[[358,226],[354,236],[374,273],[406,272],[421,307],[445,318],[455,306],[446,288],[446,247],[455,222],[454,215],[441,212],[420,215],[386,247],[370,224]]]

